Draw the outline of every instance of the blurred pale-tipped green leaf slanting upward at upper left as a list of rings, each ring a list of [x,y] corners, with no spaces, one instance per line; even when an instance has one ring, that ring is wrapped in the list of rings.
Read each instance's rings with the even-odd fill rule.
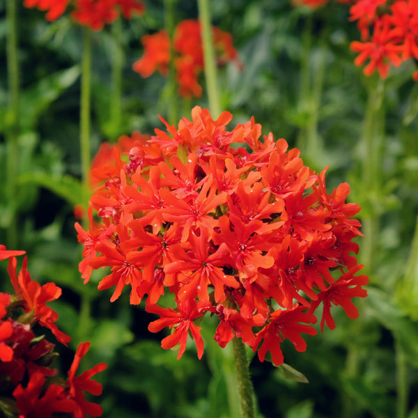
[[[39,80],[31,88],[26,88],[20,98],[20,124],[26,130],[33,130],[39,116],[54,102],[59,95],[70,87],[79,77],[78,65],[61,70]]]

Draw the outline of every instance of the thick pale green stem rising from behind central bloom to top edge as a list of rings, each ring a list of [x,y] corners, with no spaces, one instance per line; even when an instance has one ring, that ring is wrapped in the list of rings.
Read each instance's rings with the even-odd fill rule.
[[[208,89],[209,110],[212,118],[221,114],[219,93],[217,90],[215,48],[212,42],[209,0],[198,0],[199,20],[201,23],[203,59],[205,62],[206,88]]]

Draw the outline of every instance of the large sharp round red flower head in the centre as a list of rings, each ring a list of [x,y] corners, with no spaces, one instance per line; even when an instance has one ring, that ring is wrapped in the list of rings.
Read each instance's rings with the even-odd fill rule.
[[[109,267],[100,281],[116,286],[114,302],[130,286],[130,303],[146,297],[146,311],[160,315],[148,329],[173,332],[163,348],[187,335],[203,355],[195,321],[217,316],[215,340],[224,347],[240,337],[263,361],[284,361],[280,343],[290,339],[304,351],[301,334],[316,334],[316,309],[322,302],[321,330],[335,327],[330,308],[341,305],[350,318],[353,297],[365,297],[365,275],[352,252],[361,235],[355,203],[345,203],[349,185],[332,194],[325,171],[305,167],[299,150],[288,150],[272,134],[261,140],[254,118],[231,132],[232,115],[216,121],[195,107],[169,134],[137,137],[129,160],[114,148],[116,164],[93,170],[102,185],[91,196],[90,229],[76,224],[86,283],[93,269]],[[101,222],[93,220],[93,210]],[[176,309],[157,303],[166,291]]]

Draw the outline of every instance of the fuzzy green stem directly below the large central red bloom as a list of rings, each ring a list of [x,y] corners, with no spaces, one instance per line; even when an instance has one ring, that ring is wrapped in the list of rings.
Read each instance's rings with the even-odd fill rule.
[[[238,392],[241,399],[241,416],[242,418],[254,418],[254,389],[249,376],[249,363],[245,354],[245,345],[242,343],[242,339],[237,336],[233,338],[232,342]]]

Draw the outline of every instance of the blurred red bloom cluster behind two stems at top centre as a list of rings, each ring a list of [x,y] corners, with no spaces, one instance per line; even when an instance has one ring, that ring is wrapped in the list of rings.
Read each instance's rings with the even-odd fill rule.
[[[224,65],[228,61],[235,61],[241,65],[230,33],[213,26],[212,37],[218,65]],[[144,44],[144,56],[134,63],[134,70],[142,77],[149,77],[155,71],[166,75],[171,61],[171,45],[167,32],[162,30],[153,35],[143,36],[141,41]],[[201,96],[202,88],[197,81],[203,70],[199,20],[185,20],[176,26],[172,49],[175,54],[173,65],[176,68],[180,95],[185,98]]]

